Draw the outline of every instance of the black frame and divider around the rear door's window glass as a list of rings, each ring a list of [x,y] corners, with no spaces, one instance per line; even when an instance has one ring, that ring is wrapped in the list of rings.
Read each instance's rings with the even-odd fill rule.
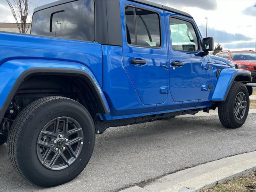
[[[133,12],[134,12],[134,28],[135,28],[135,39],[136,39],[136,42],[137,42],[137,22],[136,22],[136,8],[138,9],[142,9],[142,10],[146,10],[146,11],[150,11],[150,12],[154,12],[157,14],[158,16],[158,22],[159,22],[159,34],[160,34],[160,46],[159,47],[152,47],[152,46],[143,46],[143,45],[136,45],[136,44],[129,44],[128,41],[127,41],[127,29],[126,29],[126,14],[125,14],[125,9],[126,7],[131,7],[133,8]],[[134,6],[134,5],[130,5],[130,4],[126,4],[124,6],[124,24],[125,24],[125,40],[126,40],[126,44],[128,46],[132,46],[132,47],[141,47],[141,48],[153,48],[153,49],[161,49],[162,48],[162,25],[161,25],[161,19],[160,19],[160,14],[155,11],[155,10],[152,10],[152,9],[148,9],[148,8],[144,8],[144,7],[140,7],[140,6]]]

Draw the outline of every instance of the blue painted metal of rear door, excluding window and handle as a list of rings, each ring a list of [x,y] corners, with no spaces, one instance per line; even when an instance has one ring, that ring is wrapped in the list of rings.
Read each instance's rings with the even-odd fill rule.
[[[168,86],[168,70],[161,67],[161,62],[168,62],[167,56],[167,40],[165,36],[166,27],[164,25],[163,10],[152,8],[150,6],[142,6],[153,10],[160,15],[160,27],[162,44],[160,48],[149,48],[131,46],[126,42],[126,29],[124,19],[124,7],[129,4],[141,7],[141,4],[122,0],[120,2],[120,12],[122,19],[122,36],[123,36],[123,65],[132,84],[136,88],[138,95],[143,104],[160,104],[167,99],[167,94],[160,93],[160,87]],[[145,65],[133,65],[130,60],[140,58],[146,60]]]

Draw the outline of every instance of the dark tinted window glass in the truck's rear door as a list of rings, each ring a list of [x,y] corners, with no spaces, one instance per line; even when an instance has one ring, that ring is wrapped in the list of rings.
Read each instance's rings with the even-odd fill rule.
[[[126,6],[126,39],[128,44],[160,47],[160,20],[157,13]]]

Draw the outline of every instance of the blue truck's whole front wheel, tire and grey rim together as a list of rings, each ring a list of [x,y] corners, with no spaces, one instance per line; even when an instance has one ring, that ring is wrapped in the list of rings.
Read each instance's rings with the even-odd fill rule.
[[[225,102],[218,105],[220,122],[226,128],[238,128],[244,124],[250,107],[249,93],[241,82],[234,82]]]

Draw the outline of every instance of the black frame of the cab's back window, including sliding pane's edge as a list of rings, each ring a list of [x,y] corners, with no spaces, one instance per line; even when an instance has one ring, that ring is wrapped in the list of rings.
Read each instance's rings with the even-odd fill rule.
[[[70,2],[64,2],[64,3],[61,3],[61,4],[58,4],[58,5],[54,5],[54,6],[50,6],[50,7],[47,7],[47,8],[44,8],[44,9],[40,9],[40,10],[37,10],[36,12],[39,12],[39,11],[42,11],[42,10],[45,10],[45,9],[48,9],[48,8],[53,8],[53,7],[57,7],[57,6],[60,6],[60,5],[63,5],[63,4],[68,4],[68,3],[72,3],[74,1],[79,1],[79,0],[73,0],[73,1],[70,1]],[[65,39],[65,40],[72,40],[72,41],[81,41],[81,42],[96,42],[96,4],[95,4],[95,0],[92,0],[93,3],[94,3],[94,40],[78,40],[78,39],[69,39],[69,38],[63,38],[63,37],[54,37],[54,36],[46,36],[46,35],[37,35],[37,34],[31,34],[31,29],[32,29],[32,24],[33,24],[33,18],[34,18],[34,14],[36,12],[33,12],[32,14],[32,20],[31,20],[31,26],[30,26],[30,35],[33,35],[33,36],[41,36],[41,37],[46,37],[46,38],[56,38],[56,39]],[[57,12],[65,12],[65,10],[60,10],[60,11],[56,11],[56,12],[52,12],[50,14],[50,28],[51,27],[51,24],[52,24],[52,16],[53,14],[57,13]],[[50,30],[49,28],[49,30]]]

